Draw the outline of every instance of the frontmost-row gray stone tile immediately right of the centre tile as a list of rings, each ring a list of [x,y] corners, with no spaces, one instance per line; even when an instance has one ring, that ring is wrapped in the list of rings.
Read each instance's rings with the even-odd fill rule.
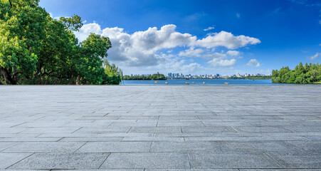
[[[189,153],[192,168],[282,168],[263,153]]]

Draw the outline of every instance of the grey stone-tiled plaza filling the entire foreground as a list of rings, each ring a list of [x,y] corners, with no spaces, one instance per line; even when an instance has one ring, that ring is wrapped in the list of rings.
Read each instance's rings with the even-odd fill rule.
[[[0,170],[265,168],[321,169],[321,86],[0,86]]]

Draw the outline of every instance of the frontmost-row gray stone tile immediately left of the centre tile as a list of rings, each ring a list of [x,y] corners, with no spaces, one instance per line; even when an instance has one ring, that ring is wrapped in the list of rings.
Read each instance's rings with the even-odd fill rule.
[[[98,169],[109,153],[36,153],[9,169]]]

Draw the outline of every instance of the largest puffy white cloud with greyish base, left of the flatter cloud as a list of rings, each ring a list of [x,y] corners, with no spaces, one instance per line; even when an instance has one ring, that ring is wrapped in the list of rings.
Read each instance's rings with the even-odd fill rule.
[[[109,58],[126,66],[155,66],[161,60],[157,51],[177,46],[186,46],[196,41],[196,36],[175,31],[175,25],[162,26],[159,30],[150,27],[147,31],[129,34],[123,28],[105,28],[102,36],[112,42]]]

